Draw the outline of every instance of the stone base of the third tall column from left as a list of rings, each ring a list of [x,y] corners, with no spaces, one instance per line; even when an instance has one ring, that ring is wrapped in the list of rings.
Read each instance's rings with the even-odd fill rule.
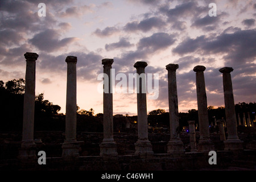
[[[100,148],[101,148],[101,152],[100,152],[100,156],[117,156],[117,143],[114,142],[114,140],[112,142],[102,142],[100,144]]]

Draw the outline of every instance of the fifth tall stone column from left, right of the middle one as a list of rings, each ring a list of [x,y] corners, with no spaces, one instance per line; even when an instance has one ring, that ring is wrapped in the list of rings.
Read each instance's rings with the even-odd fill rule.
[[[168,154],[184,153],[183,142],[179,137],[179,110],[177,103],[177,83],[176,69],[177,64],[168,64],[168,98],[169,98],[169,115],[170,115],[170,140],[167,144]]]

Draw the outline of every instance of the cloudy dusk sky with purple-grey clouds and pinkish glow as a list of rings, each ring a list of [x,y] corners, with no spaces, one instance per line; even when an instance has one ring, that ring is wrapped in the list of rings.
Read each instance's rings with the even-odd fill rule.
[[[45,3],[46,16],[39,16]],[[216,3],[217,16],[209,16]],[[193,67],[204,65],[208,105],[224,106],[222,75],[233,67],[235,103],[256,101],[256,1],[1,0],[0,80],[24,78],[24,53],[36,52],[36,93],[65,113],[67,56],[77,56],[77,104],[102,113],[101,60],[114,59],[115,73],[159,74],[159,97],[147,110],[168,111],[167,64],[179,64],[179,111],[197,109]],[[116,81],[117,84],[119,81]],[[154,84],[153,84],[154,85]],[[136,93],[114,93],[114,114],[137,114]]]

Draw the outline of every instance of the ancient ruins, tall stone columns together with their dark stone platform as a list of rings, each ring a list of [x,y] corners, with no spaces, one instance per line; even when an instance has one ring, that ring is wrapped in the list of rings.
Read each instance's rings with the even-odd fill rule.
[[[34,141],[34,100],[35,100],[35,61],[38,58],[36,53],[27,52],[26,58],[26,89],[24,93],[24,118],[22,142],[19,148],[18,160],[20,168],[42,169],[36,161],[36,143]],[[183,141],[179,135],[179,117],[177,105],[177,82],[176,69],[177,64],[168,64],[168,103],[170,109],[170,140],[167,143],[167,150],[164,154],[155,154],[152,150],[152,143],[148,139],[147,122],[147,99],[146,93],[142,90],[144,79],[137,81],[137,109],[138,109],[138,140],[134,143],[134,154],[119,155],[117,152],[118,144],[114,140],[113,134],[113,94],[112,92],[103,93],[104,108],[104,130],[103,139],[100,143],[100,155],[80,156],[81,145],[86,141],[77,141],[76,132],[76,63],[77,57],[67,56],[67,99],[66,99],[66,118],[65,118],[65,140],[62,144],[62,156],[49,157],[48,169],[79,169],[79,170],[168,170],[168,169],[196,169],[196,168],[214,168],[209,166],[208,153],[215,151],[213,142],[210,139],[209,121],[207,111],[207,94],[205,91],[205,80],[203,65],[197,65],[193,68],[196,72],[196,91],[199,117],[199,141],[196,142],[195,121],[188,121],[189,126],[189,152],[185,152]],[[103,59],[104,73],[108,75],[109,80],[104,80],[104,88],[112,90],[112,77],[110,69],[113,59]],[[147,63],[138,61],[134,64],[138,75],[145,73]],[[240,156],[255,152],[255,142],[251,144],[250,150],[243,147],[242,140],[238,139],[237,120],[234,110],[234,97],[230,72],[233,68],[224,67],[220,69],[223,74],[224,100],[226,113],[226,127],[228,138],[225,138],[224,119],[218,119],[220,129],[219,137],[224,142],[224,150],[217,150],[217,164],[221,167],[228,166],[221,162],[226,156]],[[104,89],[103,88],[103,89]],[[105,90],[105,89],[104,89]],[[238,120],[240,121],[240,120]],[[216,125],[215,123],[215,125]],[[243,113],[243,125],[245,122],[245,113]],[[239,123],[240,125],[241,123]],[[247,124],[248,125],[248,124]],[[129,126],[130,127],[130,126]],[[215,127],[215,126],[214,126]],[[160,142],[160,141],[159,141]],[[65,164],[65,165],[63,165]],[[6,164],[12,166],[14,163]]]

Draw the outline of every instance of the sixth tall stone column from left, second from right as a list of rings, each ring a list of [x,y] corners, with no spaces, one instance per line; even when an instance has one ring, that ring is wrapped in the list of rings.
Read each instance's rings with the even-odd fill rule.
[[[205,67],[197,65],[194,69],[196,72],[196,93],[197,107],[199,119],[200,139],[197,149],[200,152],[209,152],[214,149],[213,143],[210,141],[209,120],[207,110],[207,95],[205,92],[204,71]]]

